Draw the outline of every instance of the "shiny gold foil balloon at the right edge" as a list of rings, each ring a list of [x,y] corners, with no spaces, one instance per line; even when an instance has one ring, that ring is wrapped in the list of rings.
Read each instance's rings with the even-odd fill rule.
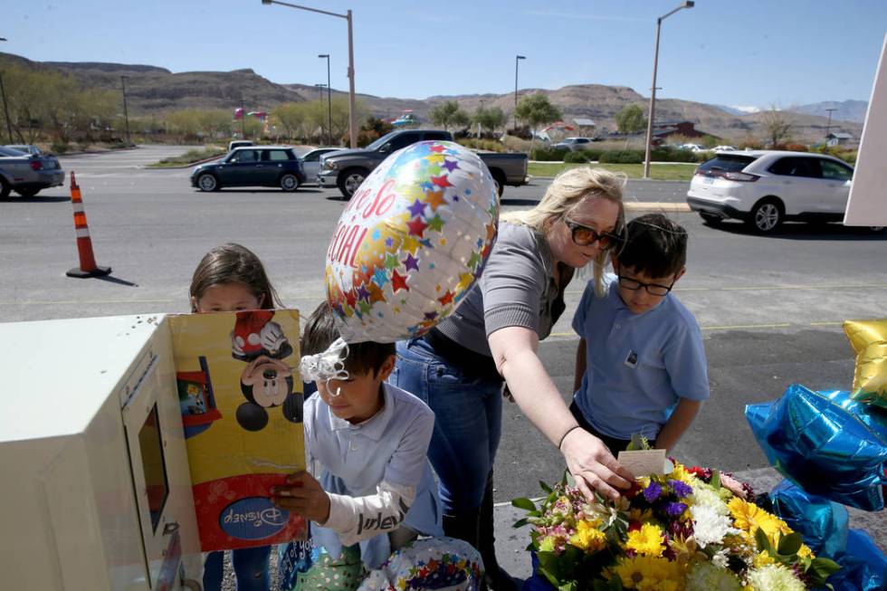
[[[856,352],[851,397],[887,408],[887,319],[846,320],[844,334]]]

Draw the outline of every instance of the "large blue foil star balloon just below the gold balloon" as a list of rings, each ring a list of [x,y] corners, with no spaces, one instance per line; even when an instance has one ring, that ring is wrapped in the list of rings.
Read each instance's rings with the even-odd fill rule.
[[[745,414],[770,464],[805,491],[882,510],[887,417],[843,398],[793,384],[775,402],[747,405]]]

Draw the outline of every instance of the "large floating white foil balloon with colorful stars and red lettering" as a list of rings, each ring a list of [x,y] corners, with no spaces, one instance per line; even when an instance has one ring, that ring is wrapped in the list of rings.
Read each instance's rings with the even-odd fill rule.
[[[393,342],[432,329],[481,276],[498,222],[495,183],[471,150],[424,141],[387,157],[351,197],[327,251],[342,338]]]

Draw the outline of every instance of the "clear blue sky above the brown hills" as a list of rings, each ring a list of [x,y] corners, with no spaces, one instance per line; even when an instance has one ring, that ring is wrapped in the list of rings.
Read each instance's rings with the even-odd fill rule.
[[[36,61],[124,62],[171,71],[252,68],[275,82],[347,90],[344,19],[261,0],[4,3],[0,51]],[[357,91],[423,99],[568,84],[649,96],[656,17],[681,0],[295,0],[354,12]],[[698,0],[663,22],[658,96],[732,106],[868,100],[883,0]]]

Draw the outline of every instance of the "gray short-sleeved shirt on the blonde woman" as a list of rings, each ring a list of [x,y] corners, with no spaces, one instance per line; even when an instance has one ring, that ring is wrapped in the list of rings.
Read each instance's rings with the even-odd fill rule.
[[[499,329],[524,327],[546,338],[564,311],[564,289],[573,277],[571,267],[559,268],[560,289],[545,237],[529,226],[502,223],[481,279],[437,329],[488,357],[487,338]]]

